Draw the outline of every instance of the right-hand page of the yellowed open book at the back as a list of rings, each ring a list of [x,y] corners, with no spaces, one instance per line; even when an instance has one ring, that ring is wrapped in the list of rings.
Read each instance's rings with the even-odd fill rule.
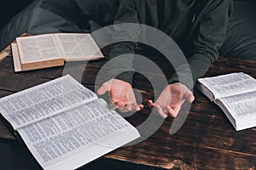
[[[66,61],[104,58],[90,34],[57,33],[55,38]]]

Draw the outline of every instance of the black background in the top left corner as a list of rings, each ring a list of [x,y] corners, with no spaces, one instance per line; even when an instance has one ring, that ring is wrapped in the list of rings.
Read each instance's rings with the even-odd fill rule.
[[[7,22],[18,14],[20,10],[25,8],[33,0],[3,0],[1,1],[0,10],[0,30],[3,28]],[[36,0],[35,0],[36,1]]]

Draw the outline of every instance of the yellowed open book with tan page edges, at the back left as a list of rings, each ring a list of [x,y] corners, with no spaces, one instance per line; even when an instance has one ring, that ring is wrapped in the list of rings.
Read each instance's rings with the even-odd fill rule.
[[[93,37],[85,33],[17,37],[11,48],[15,72],[61,66],[64,61],[104,58]]]

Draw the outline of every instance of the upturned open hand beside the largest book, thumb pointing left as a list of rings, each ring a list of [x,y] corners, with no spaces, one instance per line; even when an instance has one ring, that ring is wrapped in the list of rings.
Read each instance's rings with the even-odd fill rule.
[[[109,92],[110,105],[113,109],[119,108],[121,112],[141,111],[143,105],[137,105],[131,84],[118,79],[111,79],[104,82],[102,87],[97,90],[98,95]]]

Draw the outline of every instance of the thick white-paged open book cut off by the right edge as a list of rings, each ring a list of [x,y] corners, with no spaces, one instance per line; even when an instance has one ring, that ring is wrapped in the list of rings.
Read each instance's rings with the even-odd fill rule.
[[[256,126],[256,80],[242,72],[198,79],[196,88],[214,101],[236,131]]]

